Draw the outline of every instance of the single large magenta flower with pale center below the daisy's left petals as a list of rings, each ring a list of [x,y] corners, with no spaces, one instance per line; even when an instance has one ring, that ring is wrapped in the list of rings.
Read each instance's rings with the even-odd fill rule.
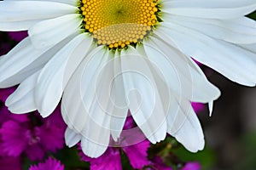
[[[65,128],[59,110],[44,120],[33,114],[25,122],[3,122],[0,128],[2,152],[15,157],[26,153],[32,161],[42,160],[45,152],[63,147]]]

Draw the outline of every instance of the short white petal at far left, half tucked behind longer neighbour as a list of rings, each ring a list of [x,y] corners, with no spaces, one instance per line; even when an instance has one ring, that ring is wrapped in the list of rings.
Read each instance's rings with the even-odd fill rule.
[[[6,100],[5,105],[9,111],[13,113],[28,113],[36,111],[37,106],[34,99],[34,88],[37,84],[39,71],[35,72],[31,77],[27,77],[25,81]]]

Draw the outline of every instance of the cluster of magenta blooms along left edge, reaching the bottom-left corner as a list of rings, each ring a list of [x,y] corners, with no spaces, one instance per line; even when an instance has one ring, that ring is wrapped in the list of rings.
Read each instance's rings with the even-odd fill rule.
[[[10,113],[3,104],[13,90],[0,89],[0,167],[18,170],[24,156],[31,161],[42,161],[47,152],[55,153],[62,149],[66,125],[60,109],[44,120],[37,112],[25,115]]]

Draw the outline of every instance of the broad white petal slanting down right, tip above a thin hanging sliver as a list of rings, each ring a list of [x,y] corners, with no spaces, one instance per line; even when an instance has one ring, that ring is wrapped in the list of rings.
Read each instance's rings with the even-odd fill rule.
[[[159,68],[163,81],[168,84],[172,93],[202,103],[218,99],[218,88],[207,81],[207,77],[192,59],[156,37],[150,37],[147,43],[144,42],[144,48],[148,59]]]

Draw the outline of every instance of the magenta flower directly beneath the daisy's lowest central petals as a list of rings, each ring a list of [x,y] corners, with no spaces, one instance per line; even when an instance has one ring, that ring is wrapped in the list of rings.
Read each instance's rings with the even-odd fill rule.
[[[133,120],[131,119],[131,116],[127,118],[125,122],[124,129],[129,129],[131,127],[134,127]],[[136,135],[137,138],[142,138],[143,133],[140,131],[137,131]],[[122,141],[122,138],[124,138],[123,133],[120,135],[119,141]],[[112,144],[114,145],[114,141],[112,141]],[[90,158],[89,156],[85,156],[84,153],[81,151],[81,147],[79,145],[79,150],[81,151],[79,154],[81,156],[81,160],[83,161],[90,161],[90,169],[91,170],[104,170],[104,169],[115,169],[115,170],[121,170],[121,158],[120,158],[120,151],[125,152],[126,156],[128,157],[131,167],[136,169],[141,169],[144,166],[147,166],[150,164],[150,161],[148,161],[148,153],[147,150],[150,146],[150,143],[147,139],[133,145],[127,145],[122,146],[122,144],[116,143],[116,145],[119,145],[120,147],[108,147],[108,150],[106,152],[98,157],[98,158]]]

